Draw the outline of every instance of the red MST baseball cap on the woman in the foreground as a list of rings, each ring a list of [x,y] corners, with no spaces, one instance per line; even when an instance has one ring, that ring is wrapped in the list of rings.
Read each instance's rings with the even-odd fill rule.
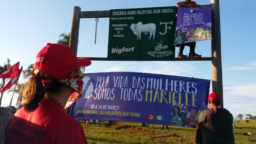
[[[35,69],[43,69],[48,78],[60,78],[91,63],[87,58],[76,58],[73,50],[64,44],[47,43],[36,56],[32,75]]]

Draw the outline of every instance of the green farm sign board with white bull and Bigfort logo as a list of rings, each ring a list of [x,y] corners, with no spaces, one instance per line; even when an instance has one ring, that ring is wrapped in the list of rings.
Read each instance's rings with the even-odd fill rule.
[[[108,59],[174,60],[176,7],[112,9]]]

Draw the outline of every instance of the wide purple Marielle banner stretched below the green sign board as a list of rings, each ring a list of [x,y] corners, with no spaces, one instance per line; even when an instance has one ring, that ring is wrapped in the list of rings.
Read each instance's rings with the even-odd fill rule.
[[[74,118],[184,127],[195,127],[187,119],[207,108],[210,89],[208,79],[134,72],[83,74],[83,82]]]

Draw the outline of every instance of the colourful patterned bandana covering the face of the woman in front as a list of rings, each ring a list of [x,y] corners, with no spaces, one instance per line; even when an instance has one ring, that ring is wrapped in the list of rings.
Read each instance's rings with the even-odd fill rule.
[[[66,84],[76,92],[71,94],[70,98],[67,100],[67,104],[65,106],[66,111],[68,108],[73,104],[76,100],[82,97],[83,93],[83,76],[82,75],[66,75],[65,77],[61,78],[48,78],[45,72],[42,69],[35,69],[34,75],[36,74],[42,74],[42,83],[50,83],[53,79]]]

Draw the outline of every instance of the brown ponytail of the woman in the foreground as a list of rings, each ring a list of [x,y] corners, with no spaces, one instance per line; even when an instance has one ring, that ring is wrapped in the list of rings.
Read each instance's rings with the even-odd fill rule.
[[[40,74],[32,76],[27,83],[21,88],[21,94],[24,98],[25,111],[32,112],[38,107],[38,103],[45,96],[45,89],[42,84],[42,78]]]

